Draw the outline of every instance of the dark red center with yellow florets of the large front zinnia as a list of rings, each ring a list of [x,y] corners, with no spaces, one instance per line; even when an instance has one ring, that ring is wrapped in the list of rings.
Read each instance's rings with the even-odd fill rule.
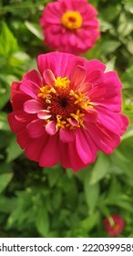
[[[68,127],[70,130],[85,127],[85,110],[93,108],[90,99],[84,92],[73,91],[67,77],[57,77],[55,84],[40,88],[38,97],[44,100],[44,109],[51,115],[46,120],[56,122],[56,131]]]

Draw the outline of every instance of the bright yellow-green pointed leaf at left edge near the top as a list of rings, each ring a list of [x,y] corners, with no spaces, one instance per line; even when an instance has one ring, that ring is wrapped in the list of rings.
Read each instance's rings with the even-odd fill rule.
[[[17,41],[7,27],[5,22],[2,23],[2,30],[0,35],[0,55],[5,56],[5,58],[12,54],[13,52],[17,51]]]

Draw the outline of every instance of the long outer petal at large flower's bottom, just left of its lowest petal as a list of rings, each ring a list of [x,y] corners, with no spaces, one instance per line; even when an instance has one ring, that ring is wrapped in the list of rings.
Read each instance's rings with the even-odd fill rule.
[[[58,152],[58,133],[55,136],[49,136],[46,141],[45,147],[42,154],[40,155],[39,165],[40,166],[53,166],[59,161]]]

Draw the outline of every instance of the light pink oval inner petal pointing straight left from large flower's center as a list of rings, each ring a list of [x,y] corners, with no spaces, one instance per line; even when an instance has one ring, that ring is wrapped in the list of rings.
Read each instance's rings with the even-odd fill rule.
[[[43,107],[43,103],[36,100],[30,100],[24,103],[24,110],[28,113],[36,113],[39,110],[42,110]]]

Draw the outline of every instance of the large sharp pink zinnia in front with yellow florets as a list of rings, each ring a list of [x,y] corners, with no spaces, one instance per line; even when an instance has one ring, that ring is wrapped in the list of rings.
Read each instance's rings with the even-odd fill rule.
[[[26,156],[40,166],[75,171],[110,154],[128,126],[117,73],[98,60],[67,53],[38,56],[36,70],[13,82],[8,121]]]

